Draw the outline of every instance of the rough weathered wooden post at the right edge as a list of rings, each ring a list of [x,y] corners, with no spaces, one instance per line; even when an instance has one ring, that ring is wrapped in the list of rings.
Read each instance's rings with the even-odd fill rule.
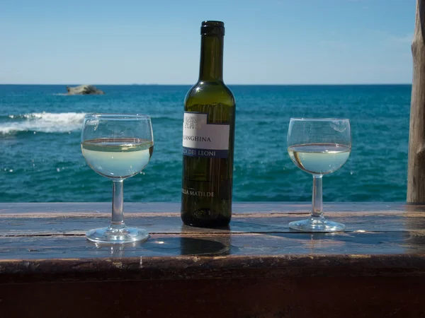
[[[425,202],[425,0],[416,1],[412,42],[413,84],[410,105],[407,202]]]

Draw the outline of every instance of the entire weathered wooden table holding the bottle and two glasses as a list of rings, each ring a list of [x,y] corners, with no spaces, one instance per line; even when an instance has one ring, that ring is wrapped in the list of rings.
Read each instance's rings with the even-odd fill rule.
[[[109,203],[0,204],[0,317],[425,317],[425,206],[325,204],[337,234],[288,229],[310,203],[234,204],[228,228],[125,204],[137,245],[95,245]]]

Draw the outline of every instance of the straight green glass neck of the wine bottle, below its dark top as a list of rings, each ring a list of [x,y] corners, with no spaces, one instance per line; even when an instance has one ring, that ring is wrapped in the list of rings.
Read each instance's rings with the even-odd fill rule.
[[[199,81],[223,81],[223,35],[202,35]]]

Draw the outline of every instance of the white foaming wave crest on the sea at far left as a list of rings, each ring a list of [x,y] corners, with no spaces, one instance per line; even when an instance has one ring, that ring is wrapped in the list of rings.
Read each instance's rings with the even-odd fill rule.
[[[18,131],[45,133],[66,133],[81,129],[85,113],[83,112],[33,112],[23,115],[9,115],[10,119],[19,119],[0,123],[0,134],[13,134]]]

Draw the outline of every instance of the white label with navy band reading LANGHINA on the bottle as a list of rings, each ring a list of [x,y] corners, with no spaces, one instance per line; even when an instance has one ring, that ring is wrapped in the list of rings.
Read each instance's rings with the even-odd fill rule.
[[[227,158],[229,124],[210,124],[208,114],[184,112],[183,155],[204,158]]]

